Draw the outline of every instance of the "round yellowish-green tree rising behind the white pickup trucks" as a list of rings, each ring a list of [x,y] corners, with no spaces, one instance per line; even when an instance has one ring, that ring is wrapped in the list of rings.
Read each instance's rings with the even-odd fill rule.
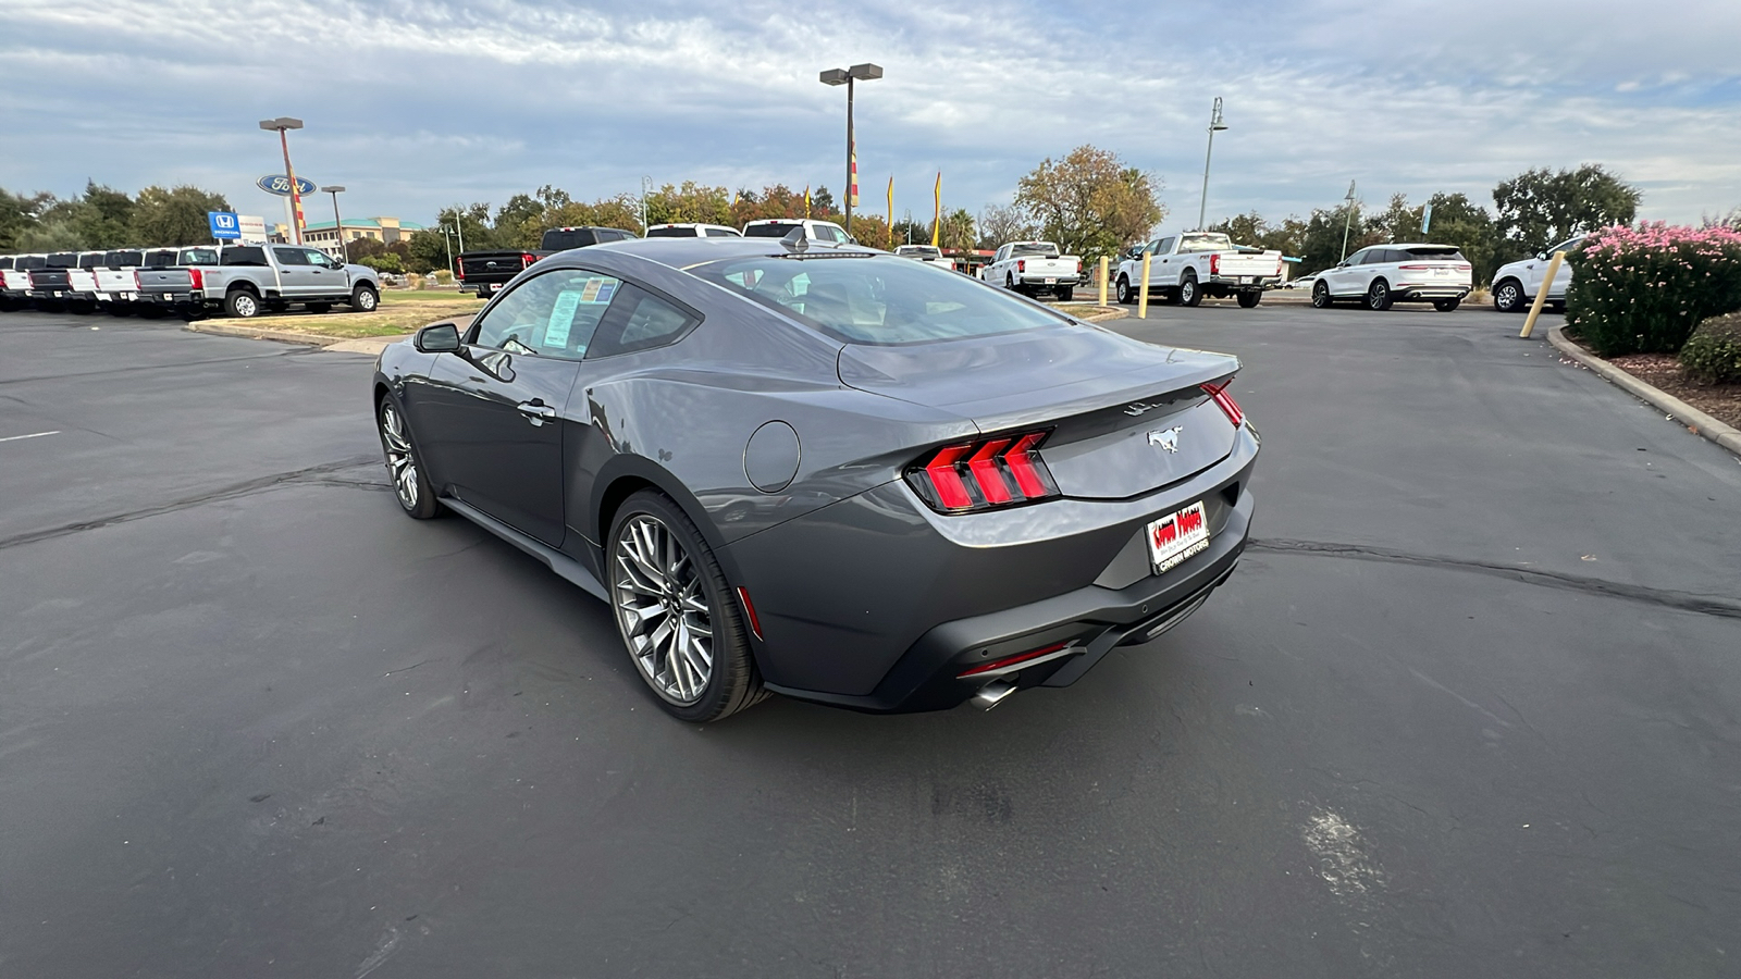
[[[1154,178],[1125,165],[1118,153],[1078,146],[1062,160],[1046,157],[1017,181],[1015,206],[1032,214],[1041,237],[1083,261],[1118,254],[1149,233],[1166,209]]]

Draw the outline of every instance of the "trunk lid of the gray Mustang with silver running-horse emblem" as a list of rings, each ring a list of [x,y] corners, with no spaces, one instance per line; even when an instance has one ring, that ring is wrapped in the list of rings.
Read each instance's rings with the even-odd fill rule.
[[[961,415],[982,434],[1050,429],[1039,456],[1060,493],[1086,500],[1140,496],[1226,458],[1236,430],[1201,385],[1238,369],[1226,354],[1083,326],[839,354],[848,387]]]

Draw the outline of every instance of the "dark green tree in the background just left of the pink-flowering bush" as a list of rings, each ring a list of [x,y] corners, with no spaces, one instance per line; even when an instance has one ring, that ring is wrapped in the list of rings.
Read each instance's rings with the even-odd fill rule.
[[[1600,164],[1523,171],[1494,188],[1496,226],[1506,251],[1501,258],[1523,258],[1583,232],[1630,225],[1640,197],[1637,186]]]

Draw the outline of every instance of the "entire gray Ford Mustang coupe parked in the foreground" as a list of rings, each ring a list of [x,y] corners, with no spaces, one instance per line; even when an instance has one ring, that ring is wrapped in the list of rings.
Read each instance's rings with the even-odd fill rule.
[[[857,244],[653,239],[388,347],[374,411],[400,507],[609,603],[677,718],[930,711],[1065,686],[1233,573],[1238,368]]]

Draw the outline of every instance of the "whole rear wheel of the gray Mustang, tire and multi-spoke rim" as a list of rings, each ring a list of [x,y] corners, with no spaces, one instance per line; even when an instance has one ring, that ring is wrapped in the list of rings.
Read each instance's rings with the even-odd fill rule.
[[[707,723],[766,697],[736,596],[669,496],[641,490],[623,500],[606,573],[616,629],[660,707]]]

